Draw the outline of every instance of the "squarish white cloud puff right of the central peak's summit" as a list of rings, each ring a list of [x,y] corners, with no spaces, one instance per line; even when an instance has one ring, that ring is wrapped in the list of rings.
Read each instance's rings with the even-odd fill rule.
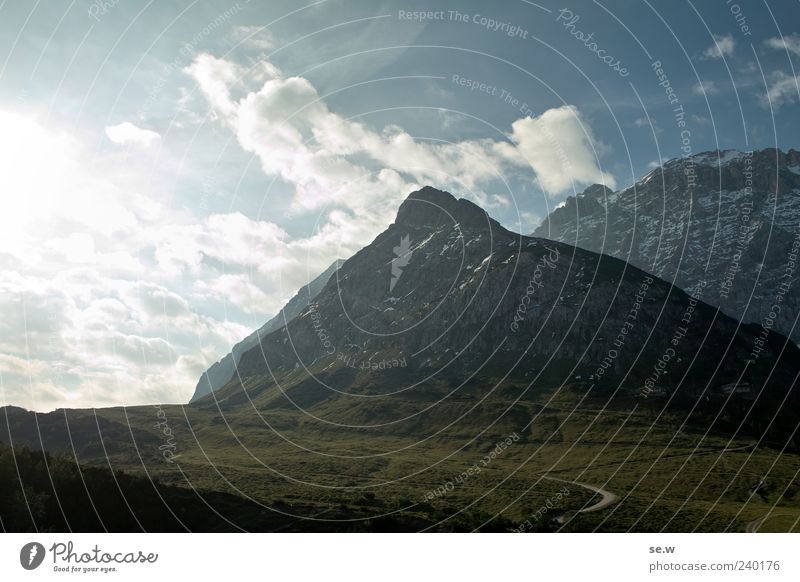
[[[616,188],[614,177],[600,169],[597,142],[575,107],[565,105],[518,119],[512,129],[511,139],[548,194],[577,189],[577,184]]]

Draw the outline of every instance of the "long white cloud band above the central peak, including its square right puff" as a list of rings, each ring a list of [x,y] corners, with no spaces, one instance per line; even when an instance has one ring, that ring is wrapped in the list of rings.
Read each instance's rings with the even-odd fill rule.
[[[307,79],[284,77],[277,69],[258,90],[235,100],[229,89],[234,68],[200,55],[185,71],[241,146],[259,157],[264,172],[294,186],[297,209],[339,205],[377,228],[390,217],[375,220],[375,200],[396,206],[421,183],[455,185],[489,207],[497,200],[485,187],[507,170],[532,168],[553,194],[573,183],[613,184],[613,177],[599,170],[596,144],[574,107],[518,120],[509,135],[516,148],[490,139],[430,143],[394,125],[374,129],[346,119],[330,111]],[[554,140],[569,152],[568,159],[553,158]],[[551,147],[542,147],[545,142]]]

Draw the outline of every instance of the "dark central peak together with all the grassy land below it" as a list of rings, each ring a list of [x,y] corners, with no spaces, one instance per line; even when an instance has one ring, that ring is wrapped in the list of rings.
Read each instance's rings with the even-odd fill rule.
[[[175,503],[200,529],[796,529],[800,348],[689,291],[424,188],[214,394],[0,411],[32,450],[0,519],[91,495],[112,528]],[[117,477],[128,509],[95,499]]]

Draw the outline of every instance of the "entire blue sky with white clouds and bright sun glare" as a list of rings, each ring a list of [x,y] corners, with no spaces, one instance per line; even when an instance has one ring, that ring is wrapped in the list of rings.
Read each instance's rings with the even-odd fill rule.
[[[800,4],[0,4],[0,405],[180,403],[433,185],[531,232],[798,146]]]

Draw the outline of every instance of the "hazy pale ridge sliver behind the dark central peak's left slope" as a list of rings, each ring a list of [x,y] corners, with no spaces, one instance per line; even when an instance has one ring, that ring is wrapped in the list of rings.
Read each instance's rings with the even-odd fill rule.
[[[308,285],[301,287],[295,296],[278,312],[278,315],[233,346],[229,354],[203,372],[189,402],[194,402],[203,396],[207,396],[220,386],[224,386],[228,383],[236,373],[236,364],[239,363],[239,358],[241,358],[242,354],[252,347],[257,346],[260,338],[283,327],[288,321],[300,313],[300,311],[317,296],[320,290],[322,290],[322,287],[328,282],[331,275],[336,272],[336,269],[339,268],[341,263],[342,260],[337,259],[330,267],[308,283]]]

